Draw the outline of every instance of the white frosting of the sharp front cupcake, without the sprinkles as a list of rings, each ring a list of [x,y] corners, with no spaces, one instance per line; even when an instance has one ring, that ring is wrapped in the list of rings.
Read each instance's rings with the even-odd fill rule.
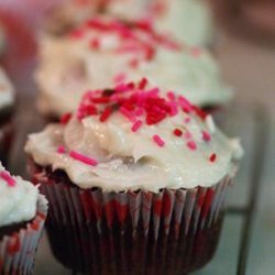
[[[235,140],[227,139],[213,124],[205,123],[191,114],[179,111],[157,124],[131,130],[133,122],[114,112],[103,123],[98,116],[79,121],[74,117],[68,124],[50,124],[44,131],[29,136],[25,151],[34,162],[53,169],[66,170],[72,182],[81,188],[101,187],[106,191],[144,189],[153,193],[160,188],[194,188],[211,186],[233,172],[232,161],[240,150]],[[209,121],[209,120],[207,120]],[[191,138],[178,138],[173,131],[180,129]],[[202,131],[212,131],[211,141],[202,139]],[[152,136],[165,141],[160,147]],[[188,141],[196,143],[191,150]],[[66,153],[58,153],[59,146]],[[76,151],[98,162],[90,166],[70,157]],[[211,154],[217,160],[211,163]]]

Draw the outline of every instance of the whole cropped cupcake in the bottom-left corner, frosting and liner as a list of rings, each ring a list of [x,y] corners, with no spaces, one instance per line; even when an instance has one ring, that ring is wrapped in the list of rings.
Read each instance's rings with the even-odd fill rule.
[[[31,183],[0,164],[0,274],[32,274],[47,202]]]

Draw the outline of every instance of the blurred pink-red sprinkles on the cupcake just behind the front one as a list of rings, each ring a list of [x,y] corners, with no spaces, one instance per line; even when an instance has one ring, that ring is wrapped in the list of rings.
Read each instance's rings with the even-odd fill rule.
[[[160,46],[169,51],[180,51],[183,46],[167,35],[160,34],[151,22],[144,20],[122,22],[116,19],[94,18],[73,31],[70,36],[77,40],[89,37],[90,48],[100,51],[102,34],[112,34],[118,37],[119,45],[113,48],[116,53],[133,54],[133,58],[129,61],[130,67],[139,66],[144,59],[153,59]]]

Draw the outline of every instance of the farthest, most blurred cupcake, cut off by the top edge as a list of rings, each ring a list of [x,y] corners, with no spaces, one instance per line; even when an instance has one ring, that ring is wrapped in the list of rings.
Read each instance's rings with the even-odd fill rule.
[[[204,0],[70,0],[53,9],[47,32],[65,34],[98,13],[120,20],[145,20],[189,45],[211,46],[213,22]]]

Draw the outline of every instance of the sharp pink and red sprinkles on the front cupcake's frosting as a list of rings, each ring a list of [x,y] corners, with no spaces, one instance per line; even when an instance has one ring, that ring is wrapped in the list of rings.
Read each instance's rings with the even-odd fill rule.
[[[92,90],[85,94],[77,110],[77,119],[81,121],[87,117],[97,117],[101,123],[106,123],[110,117],[119,112],[125,120],[131,123],[131,131],[136,133],[144,125],[153,127],[162,121],[183,113],[183,124],[173,130],[172,135],[177,139],[184,139],[186,146],[190,151],[196,151],[198,144],[193,134],[188,131],[188,123],[191,121],[191,116],[199,117],[202,121],[207,119],[205,113],[197,106],[191,105],[183,96],[177,96],[173,91],[166,95],[161,94],[160,89],[148,87],[146,78],[139,82],[120,84],[114,89]],[[62,123],[67,123],[70,114],[65,114],[62,118]],[[201,131],[201,142],[209,143],[211,134],[205,130]],[[153,144],[164,147],[166,141],[155,133],[152,136]],[[66,152],[63,146],[57,148],[57,152],[68,153],[68,155],[87,165],[96,166],[98,162],[95,158],[85,156],[79,152]],[[208,161],[216,162],[216,154],[212,153]]]

